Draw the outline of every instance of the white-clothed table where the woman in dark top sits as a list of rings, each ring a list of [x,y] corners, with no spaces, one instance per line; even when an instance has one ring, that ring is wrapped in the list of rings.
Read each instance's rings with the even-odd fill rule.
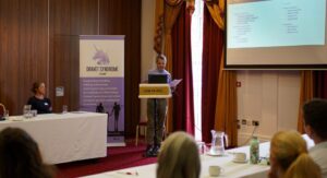
[[[59,164],[107,156],[107,114],[75,111],[37,115],[31,119],[9,117],[0,122],[21,128],[38,143],[44,161]]]

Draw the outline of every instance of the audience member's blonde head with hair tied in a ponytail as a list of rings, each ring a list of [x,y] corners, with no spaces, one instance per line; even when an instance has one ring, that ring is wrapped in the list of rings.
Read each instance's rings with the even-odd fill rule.
[[[306,142],[296,131],[280,131],[272,137],[270,164],[269,177],[322,177],[320,168],[307,154]]]

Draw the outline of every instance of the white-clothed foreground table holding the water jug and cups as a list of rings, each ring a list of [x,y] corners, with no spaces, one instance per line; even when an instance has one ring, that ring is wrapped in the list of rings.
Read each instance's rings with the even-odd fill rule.
[[[262,157],[269,156],[269,142],[261,143],[259,153]],[[251,178],[264,178],[267,177],[269,166],[268,165],[252,165],[250,163],[239,164],[233,163],[233,154],[237,152],[246,153],[247,158],[250,157],[250,146],[242,146],[232,150],[228,150],[225,156],[201,156],[201,178],[209,178],[209,166],[218,165],[223,168],[222,174],[219,177],[251,177]],[[157,164],[150,164],[145,166],[131,167],[120,170],[106,171],[102,174],[86,176],[85,178],[132,178],[132,177],[142,177],[142,178],[154,178],[156,177]],[[137,171],[137,176],[135,173]],[[126,175],[131,173],[132,175]]]

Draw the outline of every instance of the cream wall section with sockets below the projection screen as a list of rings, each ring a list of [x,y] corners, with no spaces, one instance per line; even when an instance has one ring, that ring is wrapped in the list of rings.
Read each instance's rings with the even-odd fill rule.
[[[254,127],[261,141],[270,140],[279,130],[296,130],[300,105],[299,71],[238,71],[238,119],[250,124],[240,124],[239,145],[246,143]]]

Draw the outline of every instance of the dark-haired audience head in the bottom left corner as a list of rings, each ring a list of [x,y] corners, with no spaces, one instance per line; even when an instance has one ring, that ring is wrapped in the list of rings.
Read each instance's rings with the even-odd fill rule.
[[[55,171],[45,165],[37,143],[22,129],[0,132],[0,178],[52,178]]]

